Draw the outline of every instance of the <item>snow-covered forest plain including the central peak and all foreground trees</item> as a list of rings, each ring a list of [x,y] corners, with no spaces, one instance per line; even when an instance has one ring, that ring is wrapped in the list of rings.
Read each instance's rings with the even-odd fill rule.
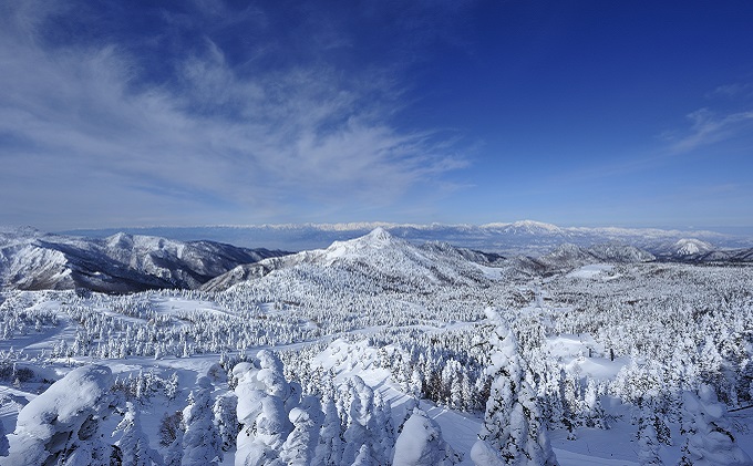
[[[384,230],[266,260],[2,292],[0,465],[753,464],[745,263],[541,273]]]

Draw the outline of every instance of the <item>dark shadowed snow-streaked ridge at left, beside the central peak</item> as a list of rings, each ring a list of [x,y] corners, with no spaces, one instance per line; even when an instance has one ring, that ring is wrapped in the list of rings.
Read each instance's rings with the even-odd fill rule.
[[[0,236],[0,288],[193,289],[239,263],[279,255],[282,252],[123,232],[92,239],[17,230]]]

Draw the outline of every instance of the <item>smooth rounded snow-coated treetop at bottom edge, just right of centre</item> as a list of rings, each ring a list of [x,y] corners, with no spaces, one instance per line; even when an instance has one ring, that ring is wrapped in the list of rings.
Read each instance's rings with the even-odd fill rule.
[[[393,466],[451,466],[460,457],[442,438],[439,424],[415,408],[403,425],[394,447]]]

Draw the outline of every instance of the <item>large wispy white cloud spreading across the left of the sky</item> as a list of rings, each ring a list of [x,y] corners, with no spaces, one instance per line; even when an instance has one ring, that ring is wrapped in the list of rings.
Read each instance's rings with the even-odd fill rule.
[[[379,207],[466,164],[446,137],[395,127],[394,70],[344,73],[321,56],[277,63],[262,11],[245,13],[261,31],[245,54],[224,44],[244,37],[231,31],[238,18],[216,7],[163,11],[169,27],[136,46],[101,32],[50,42],[45,28],[85,18],[30,4],[6,6],[0,31],[0,221],[39,210],[68,215],[61,226],[206,224]],[[146,60],[137,51],[149,40],[158,45]],[[173,49],[178,41],[190,45]],[[151,68],[168,50],[182,52]]]

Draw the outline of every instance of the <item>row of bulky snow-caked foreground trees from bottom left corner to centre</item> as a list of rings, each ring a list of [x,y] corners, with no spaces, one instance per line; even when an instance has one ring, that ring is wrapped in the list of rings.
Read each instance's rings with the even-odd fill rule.
[[[113,392],[110,369],[74,369],[23,407],[7,439],[0,432],[0,463],[188,466],[219,464],[227,452],[235,452],[235,464],[243,466],[460,462],[421,410],[412,408],[395,428],[390,403],[358,376],[322,395],[301,395],[300,386],[285,377],[279,358],[267,350],[231,373],[235,390],[218,395],[210,380],[200,376],[180,415],[163,421],[165,432],[155,448],[142,428],[137,402]],[[103,421],[118,415],[112,435],[102,432]]]

